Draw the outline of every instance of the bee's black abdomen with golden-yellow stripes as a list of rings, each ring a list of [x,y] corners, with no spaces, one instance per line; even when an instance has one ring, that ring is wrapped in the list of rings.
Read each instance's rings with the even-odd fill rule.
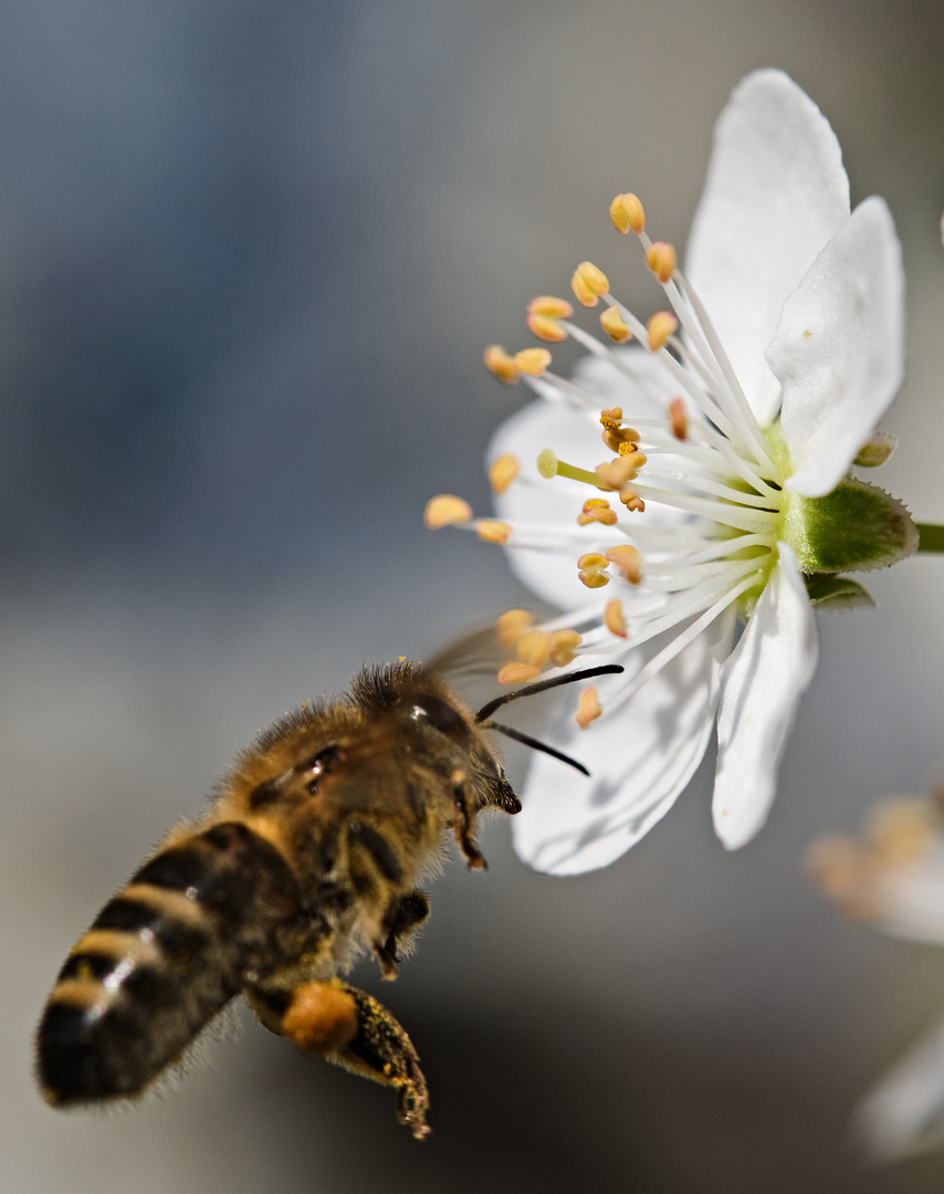
[[[277,952],[297,907],[282,855],[237,821],[158,853],[58,974],[38,1038],[50,1102],[140,1093]]]

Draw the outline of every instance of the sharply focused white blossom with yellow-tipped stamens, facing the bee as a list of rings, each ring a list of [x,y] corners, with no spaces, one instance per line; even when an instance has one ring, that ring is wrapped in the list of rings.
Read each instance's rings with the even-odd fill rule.
[[[576,630],[581,665],[625,666],[599,683],[603,714],[586,737],[573,695],[550,728],[592,777],[545,756],[531,764],[516,848],[554,874],[606,866],[638,841],[687,784],[716,719],[715,827],[730,849],[749,841],[816,665],[806,578],[822,574],[833,599],[862,597],[834,574],[894,562],[917,541],[903,507],[847,479],[902,380],[903,276],[884,202],[850,214],[839,144],[812,100],[778,70],[734,91],[684,277],[671,246],[649,241],[635,196],[611,214],[640,235],[674,314],[643,326],[590,263],[578,298],[601,297],[606,332],[637,345],[605,346],[561,300],[532,303],[532,331],[574,337],[591,356],[567,381],[543,349],[489,349],[493,371],[523,377],[537,401],[489,450],[493,475],[522,462],[496,486],[500,522],[470,523],[507,541],[520,579],[566,610],[543,629]],[[600,423],[621,455],[597,475]],[[875,462],[890,450],[871,447]],[[538,449],[553,449],[539,467]],[[522,658],[539,666],[532,647]]]

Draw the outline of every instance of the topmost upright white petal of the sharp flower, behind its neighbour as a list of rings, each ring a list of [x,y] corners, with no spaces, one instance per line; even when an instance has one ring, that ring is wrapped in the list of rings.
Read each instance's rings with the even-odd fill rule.
[[[764,349],[781,307],[847,215],[849,179],[826,117],[783,72],[749,74],[715,125],[687,275],[761,426],[779,405]]]

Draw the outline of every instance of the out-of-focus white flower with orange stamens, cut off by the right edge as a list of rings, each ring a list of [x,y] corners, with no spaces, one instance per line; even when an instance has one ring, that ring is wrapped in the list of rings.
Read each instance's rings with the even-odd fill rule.
[[[846,916],[909,941],[944,944],[944,792],[878,805],[862,841],[822,838],[809,850],[814,879]],[[908,1052],[856,1113],[877,1159],[944,1144],[944,1022]]]

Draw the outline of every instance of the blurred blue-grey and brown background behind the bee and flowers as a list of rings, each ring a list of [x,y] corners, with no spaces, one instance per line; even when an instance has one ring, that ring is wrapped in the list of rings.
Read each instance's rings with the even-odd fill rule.
[[[841,923],[808,842],[944,756],[944,561],[821,617],[760,838],[712,761],[603,873],[454,863],[395,986],[433,1138],[247,1021],[130,1112],[41,1101],[31,1038],[98,907],[258,727],[526,601],[479,510],[522,394],[481,365],[633,189],[683,245],[732,86],[785,68],[905,245],[882,484],[944,521],[944,8],[880,0],[29,0],[0,10],[0,1175],[5,1189],[931,1192],[869,1170],[865,1087],[944,1011],[944,952]],[[623,254],[621,257],[621,253]],[[621,272],[623,271],[623,272]]]

